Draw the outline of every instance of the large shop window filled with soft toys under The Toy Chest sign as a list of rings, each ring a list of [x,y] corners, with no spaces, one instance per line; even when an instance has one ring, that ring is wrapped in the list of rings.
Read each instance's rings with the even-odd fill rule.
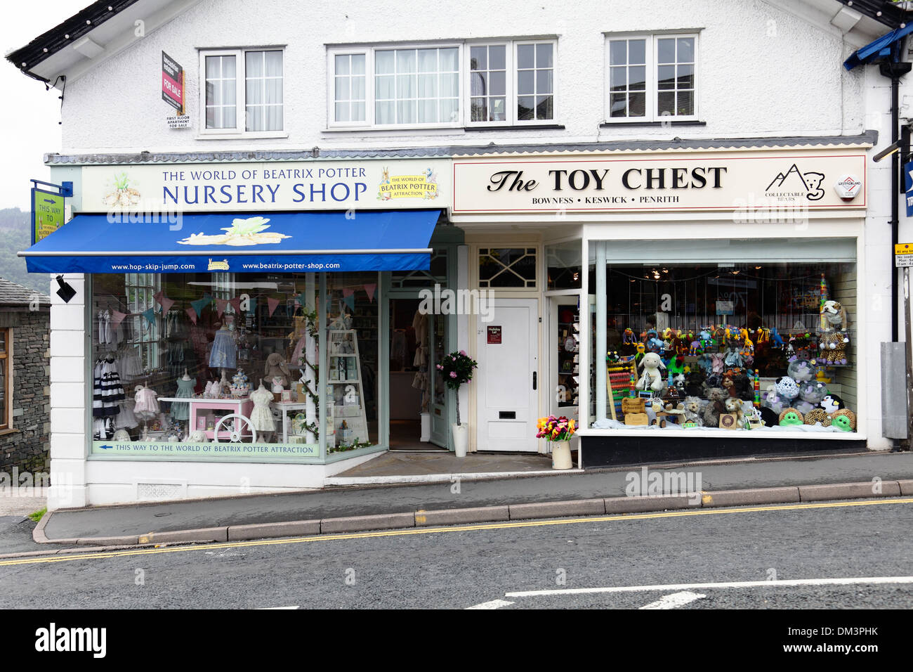
[[[614,260],[607,243],[604,280],[591,254],[591,292],[604,283],[594,347],[605,327],[604,351],[593,350],[593,427],[855,432],[855,262],[782,261],[782,250],[742,242],[756,247],[738,246],[737,261],[707,261],[711,250],[665,263]],[[813,249],[804,242],[799,253]],[[838,246],[845,254],[816,242],[825,258],[855,250],[855,240]],[[744,261],[752,253],[758,261]]]

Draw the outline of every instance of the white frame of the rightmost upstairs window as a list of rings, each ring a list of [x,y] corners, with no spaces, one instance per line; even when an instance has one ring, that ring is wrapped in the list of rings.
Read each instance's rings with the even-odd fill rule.
[[[657,114],[658,102],[659,64],[656,62],[658,51],[656,42],[659,39],[691,37],[694,39],[694,113],[693,114]],[[646,114],[643,117],[614,117],[612,116],[612,66],[611,42],[614,40],[645,40],[645,65],[646,65]],[[700,36],[695,32],[682,33],[647,33],[647,34],[607,34],[604,48],[604,89],[603,99],[605,123],[662,123],[664,120],[672,122],[697,122],[700,119]]]

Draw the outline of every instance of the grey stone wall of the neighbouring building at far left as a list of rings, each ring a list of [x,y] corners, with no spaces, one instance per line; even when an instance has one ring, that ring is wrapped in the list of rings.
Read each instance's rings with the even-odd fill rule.
[[[4,310],[0,327],[13,329],[13,432],[0,433],[0,471],[50,471],[50,314]]]

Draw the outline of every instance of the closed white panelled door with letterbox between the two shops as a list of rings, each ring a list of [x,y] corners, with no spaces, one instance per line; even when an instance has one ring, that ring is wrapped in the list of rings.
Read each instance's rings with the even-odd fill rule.
[[[494,299],[478,322],[477,449],[535,452],[539,379],[539,300]]]

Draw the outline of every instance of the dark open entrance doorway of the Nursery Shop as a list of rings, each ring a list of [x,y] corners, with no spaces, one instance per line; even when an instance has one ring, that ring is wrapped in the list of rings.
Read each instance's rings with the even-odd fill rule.
[[[446,435],[437,426],[441,423],[432,421],[445,405],[444,394],[435,393],[441,386],[433,372],[443,349],[446,317],[423,314],[418,298],[391,298],[389,303],[390,450],[446,450]],[[436,338],[437,332],[441,337]]]

